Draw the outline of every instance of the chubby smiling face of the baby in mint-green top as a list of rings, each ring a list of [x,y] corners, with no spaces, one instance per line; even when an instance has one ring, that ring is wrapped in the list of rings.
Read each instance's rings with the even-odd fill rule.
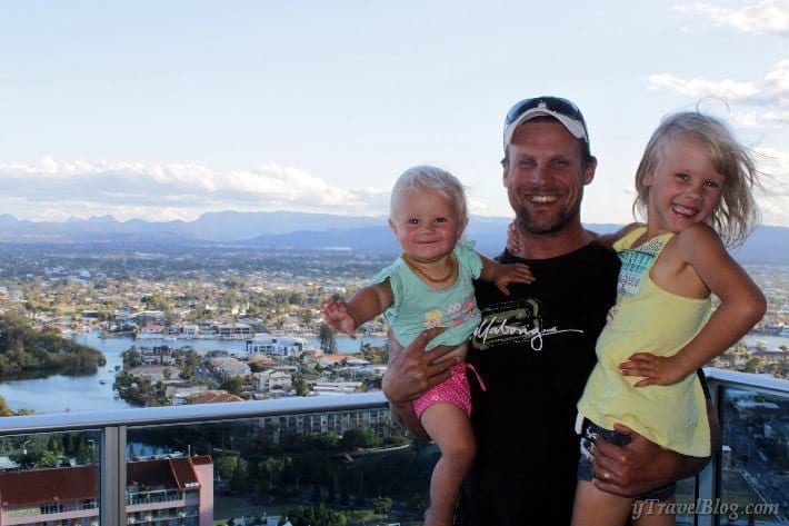
[[[406,256],[418,262],[449,255],[466,228],[451,199],[433,188],[399,196],[389,226]]]

